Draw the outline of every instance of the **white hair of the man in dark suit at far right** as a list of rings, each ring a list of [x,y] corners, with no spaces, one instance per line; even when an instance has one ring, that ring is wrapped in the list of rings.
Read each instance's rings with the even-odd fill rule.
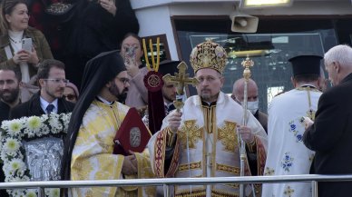
[[[339,44],[324,54],[324,63],[332,64],[338,62],[341,66],[352,68],[352,48],[347,44]]]

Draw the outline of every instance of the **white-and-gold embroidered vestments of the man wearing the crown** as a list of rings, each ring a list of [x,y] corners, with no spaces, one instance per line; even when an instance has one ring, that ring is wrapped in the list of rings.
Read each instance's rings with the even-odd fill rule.
[[[216,105],[204,106],[198,96],[189,98],[183,107],[181,126],[171,155],[171,166],[164,169],[167,146],[167,123],[150,141],[152,166],[157,177],[230,177],[240,175],[240,150],[237,125],[242,121],[242,107],[220,94]],[[165,118],[167,120],[167,118]],[[255,135],[258,172],[262,174],[266,160],[267,135],[260,123],[249,114],[248,126]],[[250,175],[245,161],[245,174]],[[256,187],[257,189],[257,187]],[[251,188],[245,186],[246,195]],[[175,196],[239,196],[238,184],[175,185]]]

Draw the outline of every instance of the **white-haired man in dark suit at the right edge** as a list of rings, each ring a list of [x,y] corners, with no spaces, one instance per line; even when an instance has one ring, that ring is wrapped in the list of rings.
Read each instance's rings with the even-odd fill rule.
[[[314,123],[306,118],[303,142],[315,151],[318,174],[351,174],[352,48],[337,45],[324,55],[333,87],[320,96]],[[319,197],[350,196],[352,182],[319,182]]]

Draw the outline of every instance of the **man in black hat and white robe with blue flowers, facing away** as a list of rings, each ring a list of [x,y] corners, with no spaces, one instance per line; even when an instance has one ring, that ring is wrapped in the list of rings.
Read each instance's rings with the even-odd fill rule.
[[[299,55],[292,64],[294,89],[276,96],[269,104],[269,149],[265,175],[308,174],[314,158],[303,143],[303,117],[314,119],[318,107],[320,59],[318,55]],[[308,197],[310,182],[263,185],[262,196]]]

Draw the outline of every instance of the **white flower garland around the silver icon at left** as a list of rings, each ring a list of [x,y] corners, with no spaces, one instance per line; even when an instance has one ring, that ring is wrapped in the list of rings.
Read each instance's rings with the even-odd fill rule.
[[[4,163],[5,182],[29,182],[31,175],[24,163],[23,139],[43,137],[48,134],[67,133],[71,113],[50,113],[4,121],[1,125],[0,157]],[[10,196],[36,197],[35,189],[7,190]],[[60,196],[60,189],[46,189],[45,196]]]

